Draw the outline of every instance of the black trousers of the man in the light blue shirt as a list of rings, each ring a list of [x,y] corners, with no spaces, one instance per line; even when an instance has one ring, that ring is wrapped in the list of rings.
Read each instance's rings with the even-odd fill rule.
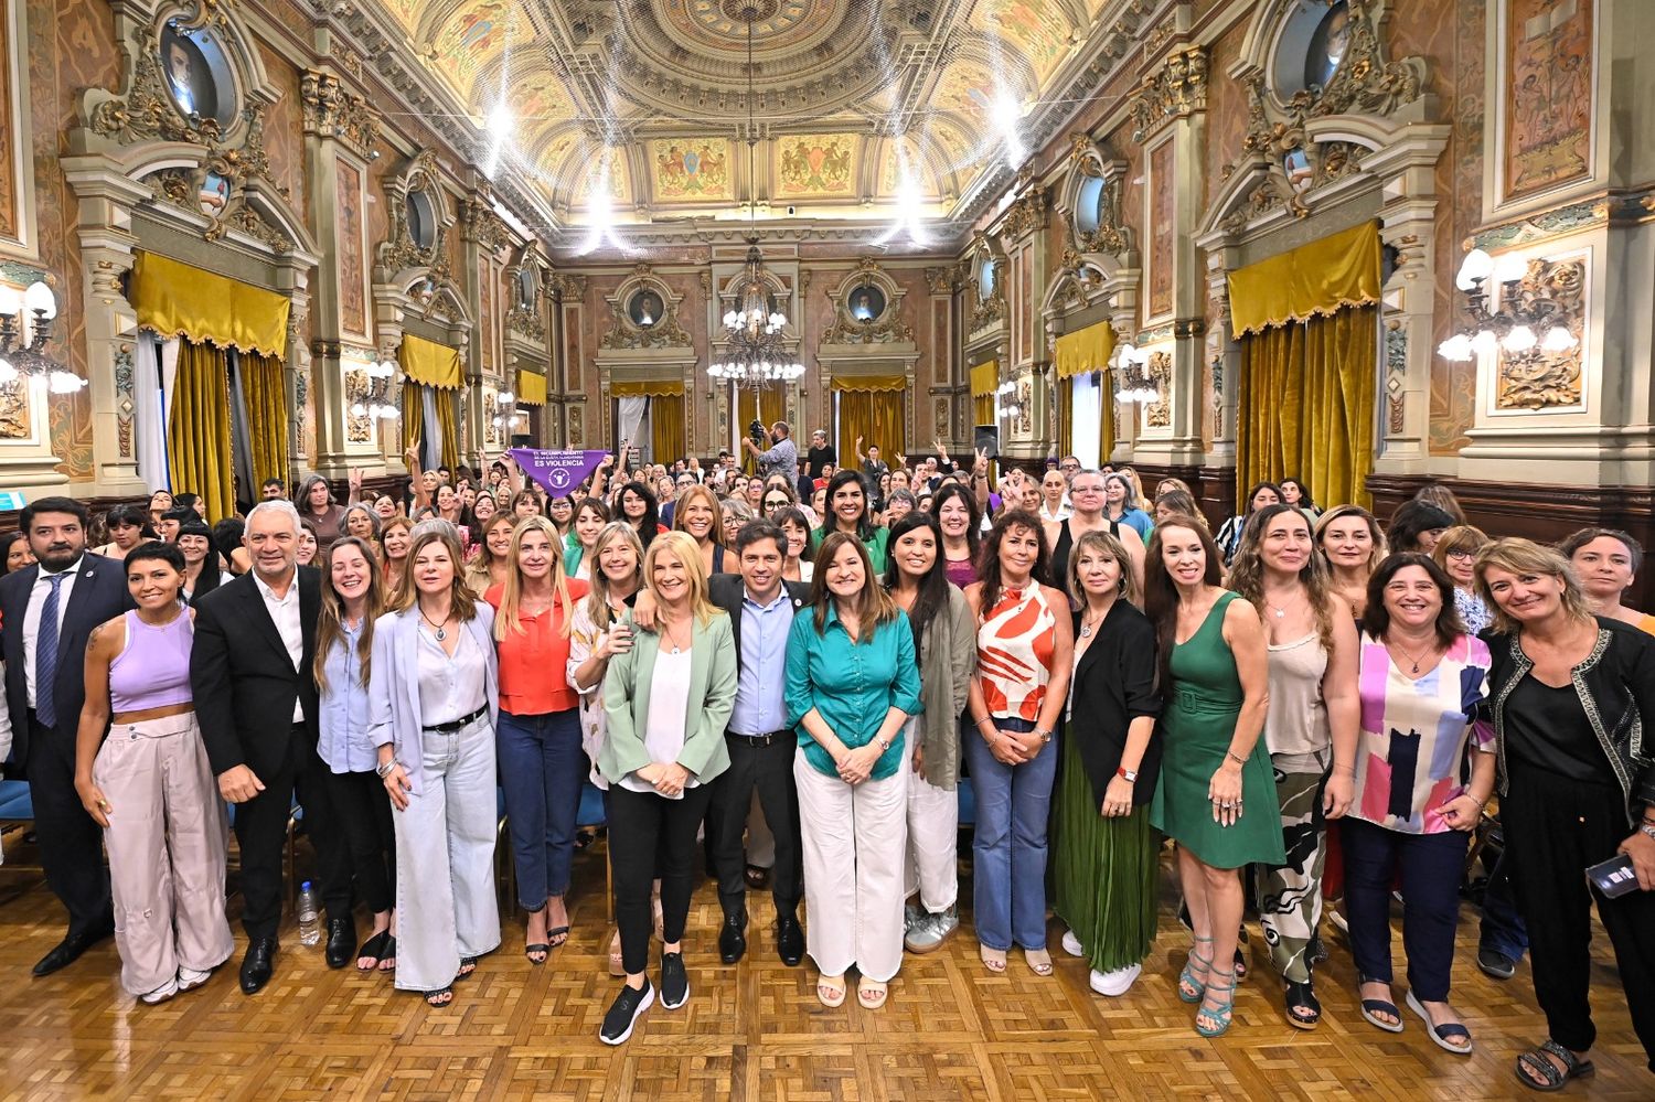
[[[758,791],[770,832],[776,836],[776,867],[770,874],[776,913],[791,915],[799,908],[804,865],[799,841],[799,793],[793,786],[793,756],[799,745],[783,738],[760,746],[741,735],[725,735],[730,768],[713,783],[707,834],[712,841],[713,869],[718,872],[718,902],[727,915],[746,910],[746,816]]]

